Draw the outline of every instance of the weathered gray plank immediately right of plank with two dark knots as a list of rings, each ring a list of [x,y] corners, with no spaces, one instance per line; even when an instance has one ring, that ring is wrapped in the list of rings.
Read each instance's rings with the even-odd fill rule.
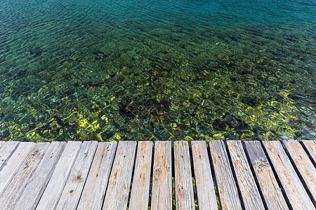
[[[78,210],[102,209],[117,142],[100,142],[80,197]]]

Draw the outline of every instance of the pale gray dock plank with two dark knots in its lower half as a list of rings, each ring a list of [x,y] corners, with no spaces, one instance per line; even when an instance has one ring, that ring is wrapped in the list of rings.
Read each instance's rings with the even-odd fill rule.
[[[98,141],[84,141],[82,144],[56,209],[77,209],[97,146]]]

